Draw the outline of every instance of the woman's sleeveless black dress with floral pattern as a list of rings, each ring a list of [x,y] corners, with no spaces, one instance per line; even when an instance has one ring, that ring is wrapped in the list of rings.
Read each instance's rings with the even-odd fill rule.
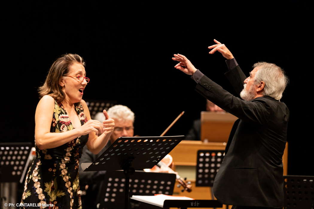
[[[75,111],[81,125],[86,123],[81,104],[75,105]],[[73,125],[64,107],[55,101],[50,132],[72,129]],[[78,166],[87,140],[88,134],[59,147],[43,150],[35,144],[36,158],[26,175],[21,203],[36,203],[38,208],[82,208]]]

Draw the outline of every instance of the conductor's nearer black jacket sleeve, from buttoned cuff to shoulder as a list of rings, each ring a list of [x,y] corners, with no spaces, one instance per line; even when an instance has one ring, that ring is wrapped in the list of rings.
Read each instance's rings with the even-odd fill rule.
[[[241,79],[243,79],[243,75]],[[239,87],[237,88],[238,90],[240,89]],[[203,76],[198,81],[195,90],[225,111],[244,121],[258,124],[266,124],[268,122],[271,107],[269,107],[269,104],[262,97],[257,97],[251,101],[242,100],[225,91],[207,76]]]

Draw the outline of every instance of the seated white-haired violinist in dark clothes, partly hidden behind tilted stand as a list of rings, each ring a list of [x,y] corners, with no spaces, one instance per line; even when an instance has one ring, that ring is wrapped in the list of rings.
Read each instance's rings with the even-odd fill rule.
[[[108,115],[115,121],[115,128],[111,134],[110,140],[99,154],[91,153],[85,146],[83,149],[80,163],[94,162],[112,143],[119,137],[133,137],[134,135],[134,113],[124,105],[115,105],[108,109]],[[100,114],[101,113],[101,114]],[[104,114],[99,112],[95,115],[95,120],[104,121]],[[82,195],[83,208],[96,208],[96,204],[101,198],[101,188],[106,171],[89,171],[83,172],[81,166],[79,168],[79,179],[81,188],[85,187],[85,195]]]

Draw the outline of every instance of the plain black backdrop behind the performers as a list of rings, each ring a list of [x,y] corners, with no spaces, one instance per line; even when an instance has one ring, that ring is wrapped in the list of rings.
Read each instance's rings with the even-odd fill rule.
[[[207,47],[217,39],[248,74],[257,61],[281,66],[290,78],[282,101],[290,109],[288,174],[314,175],[309,72],[312,5],[256,3],[28,1],[4,8],[3,142],[34,141],[34,114],[50,65],[65,53],[86,61],[83,99],[116,100],[135,113],[135,134],[185,135],[205,110],[195,82],[171,60],[186,55],[209,78],[233,89],[226,65]]]

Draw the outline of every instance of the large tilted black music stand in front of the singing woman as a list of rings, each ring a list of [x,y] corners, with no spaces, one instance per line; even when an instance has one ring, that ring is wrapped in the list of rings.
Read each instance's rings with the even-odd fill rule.
[[[82,163],[84,171],[123,170],[125,181],[135,170],[152,168],[185,136],[120,137],[93,163]],[[86,168],[86,169],[85,169]],[[125,209],[129,205],[129,184],[125,184]]]

